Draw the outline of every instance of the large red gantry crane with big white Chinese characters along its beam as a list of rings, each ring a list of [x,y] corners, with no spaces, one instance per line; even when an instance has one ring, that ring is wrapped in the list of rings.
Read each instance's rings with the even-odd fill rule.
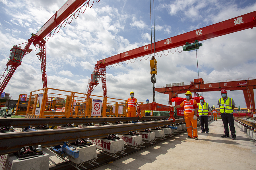
[[[94,67],[94,71],[91,75],[91,80],[88,84],[88,90],[86,90],[86,94],[90,95],[92,93],[94,85],[99,84],[99,78],[101,78],[103,95],[104,97],[107,97],[106,66],[144,55],[149,55],[151,54],[151,47],[154,47],[154,45],[155,48],[152,49],[153,53],[183,46],[186,44],[186,42],[192,43],[195,42],[195,40],[203,41],[244,29],[253,28],[255,26],[256,11],[97,61],[97,64],[95,64]]]

